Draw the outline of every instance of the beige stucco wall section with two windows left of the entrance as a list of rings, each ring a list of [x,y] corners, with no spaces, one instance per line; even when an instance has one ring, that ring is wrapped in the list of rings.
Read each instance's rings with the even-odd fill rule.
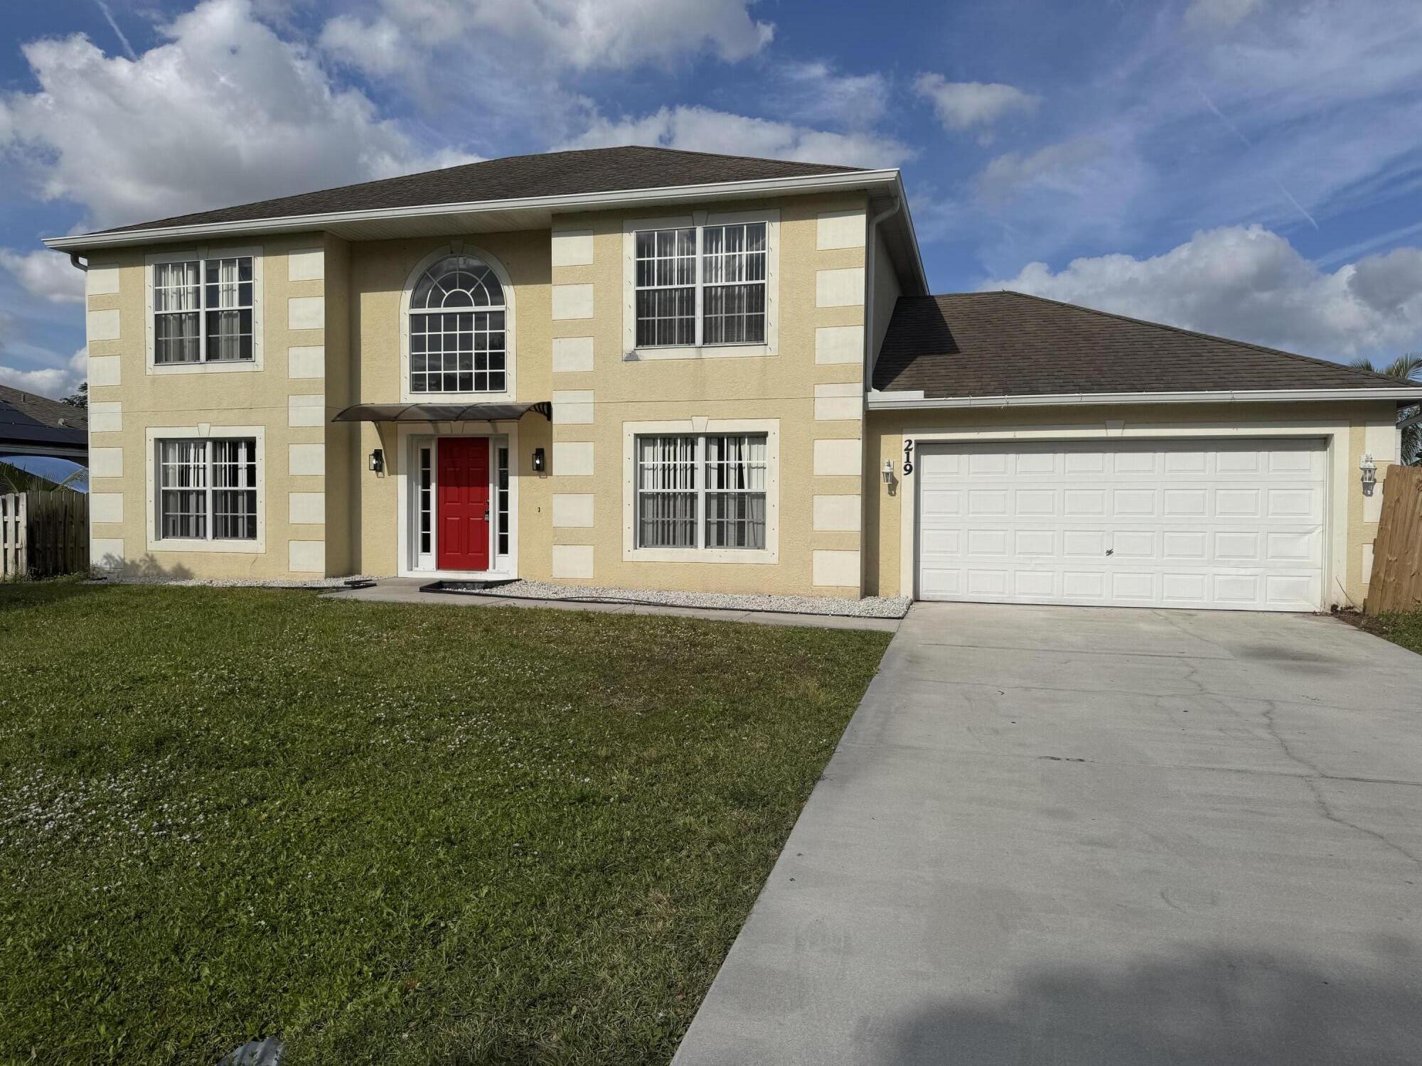
[[[292,350],[306,352],[299,367],[313,365],[311,351],[326,344],[321,306],[327,280],[321,256],[297,256],[299,269],[320,277],[293,280],[290,253],[321,249],[320,235],[210,243],[223,249],[259,249],[260,368],[213,371],[198,368],[155,374],[148,357],[146,257],[152,253],[192,250],[192,246],[154,246],[105,252],[90,259],[88,352],[91,434],[91,544],[95,566],[175,577],[319,577],[327,570],[324,526],[292,522],[292,493],[324,493],[321,465],[324,422],[324,372],[290,377]],[[313,270],[314,267],[314,270]],[[317,314],[317,327],[292,328],[292,301],[297,314]],[[316,301],[316,303],[309,303]],[[299,318],[299,323],[310,318]],[[320,368],[320,362],[316,365]],[[292,397],[313,397],[314,408],[292,404]],[[294,422],[294,425],[293,425]],[[260,429],[262,515],[260,543],[250,550],[216,551],[185,546],[169,550],[149,540],[152,495],[148,431],[183,426],[196,435],[220,436],[225,428]],[[290,473],[292,449],[301,451]],[[311,465],[314,462],[314,466]],[[311,497],[299,497],[310,503]],[[301,512],[299,517],[307,517]],[[293,570],[293,563],[296,570]]]

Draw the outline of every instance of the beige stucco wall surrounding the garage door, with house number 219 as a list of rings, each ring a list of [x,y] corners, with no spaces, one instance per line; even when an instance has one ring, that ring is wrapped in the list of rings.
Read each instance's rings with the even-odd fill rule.
[[[1325,550],[1325,604],[1361,605],[1372,563],[1382,489],[1362,493],[1358,463],[1364,452],[1379,462],[1396,461],[1396,405],[1392,402],[1325,404],[1190,404],[1079,408],[973,408],[951,411],[876,411],[867,435],[876,463],[894,463],[893,486],[882,480],[866,499],[866,594],[910,593],[904,574],[903,516],[916,489],[913,475],[903,476],[906,439],[1082,439],[1091,436],[1322,436],[1330,439],[1328,549]],[[1379,479],[1384,475],[1379,473]]]

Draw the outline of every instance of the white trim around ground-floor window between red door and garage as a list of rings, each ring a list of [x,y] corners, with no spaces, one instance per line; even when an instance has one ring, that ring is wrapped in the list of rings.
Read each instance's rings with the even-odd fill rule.
[[[637,547],[637,438],[717,434],[765,435],[765,547]],[[704,456],[697,456],[704,462]],[[697,515],[697,522],[704,522]],[[778,563],[781,559],[781,419],[684,418],[670,422],[623,422],[623,561],[624,563]]]

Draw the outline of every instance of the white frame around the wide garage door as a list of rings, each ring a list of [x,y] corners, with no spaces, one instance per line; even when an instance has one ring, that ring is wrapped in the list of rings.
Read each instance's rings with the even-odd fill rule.
[[[914,465],[923,445],[936,443],[1012,443],[1021,441],[1240,441],[1258,438],[1321,438],[1325,441],[1328,480],[1324,486],[1324,574],[1322,608],[1347,601],[1344,580],[1348,573],[1348,436],[1349,426],[1337,422],[1285,419],[1280,422],[1150,422],[1130,425],[1092,422],[1089,425],[1020,425],[991,428],[904,429],[899,453],[913,441]],[[916,475],[909,475],[916,478]],[[900,594],[919,598],[919,485],[899,493],[899,588]]]

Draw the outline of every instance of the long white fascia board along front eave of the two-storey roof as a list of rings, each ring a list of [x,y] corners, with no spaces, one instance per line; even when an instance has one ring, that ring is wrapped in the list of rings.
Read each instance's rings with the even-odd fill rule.
[[[738,199],[775,193],[843,192],[875,185],[893,183],[900,192],[899,169],[845,171],[840,173],[801,175],[796,178],[766,178],[745,182],[710,182],[705,185],[667,185],[654,189],[621,189],[613,192],[577,193],[573,196],[525,196],[508,200],[468,200],[464,203],[431,203],[414,208],[378,208],[374,210],[344,210],[320,215],[287,215],[274,219],[239,219],[233,222],[196,223],[188,226],[158,226],[124,230],[122,233],[80,233],[68,237],[46,237],[44,246],[58,252],[84,252],[97,247],[151,244],[161,240],[222,237],[228,235],[283,233],[320,230],[351,222],[421,219],[439,215],[471,212],[498,213],[508,210],[572,212],[597,208],[636,206],[640,203],[673,203],[680,200]]]

